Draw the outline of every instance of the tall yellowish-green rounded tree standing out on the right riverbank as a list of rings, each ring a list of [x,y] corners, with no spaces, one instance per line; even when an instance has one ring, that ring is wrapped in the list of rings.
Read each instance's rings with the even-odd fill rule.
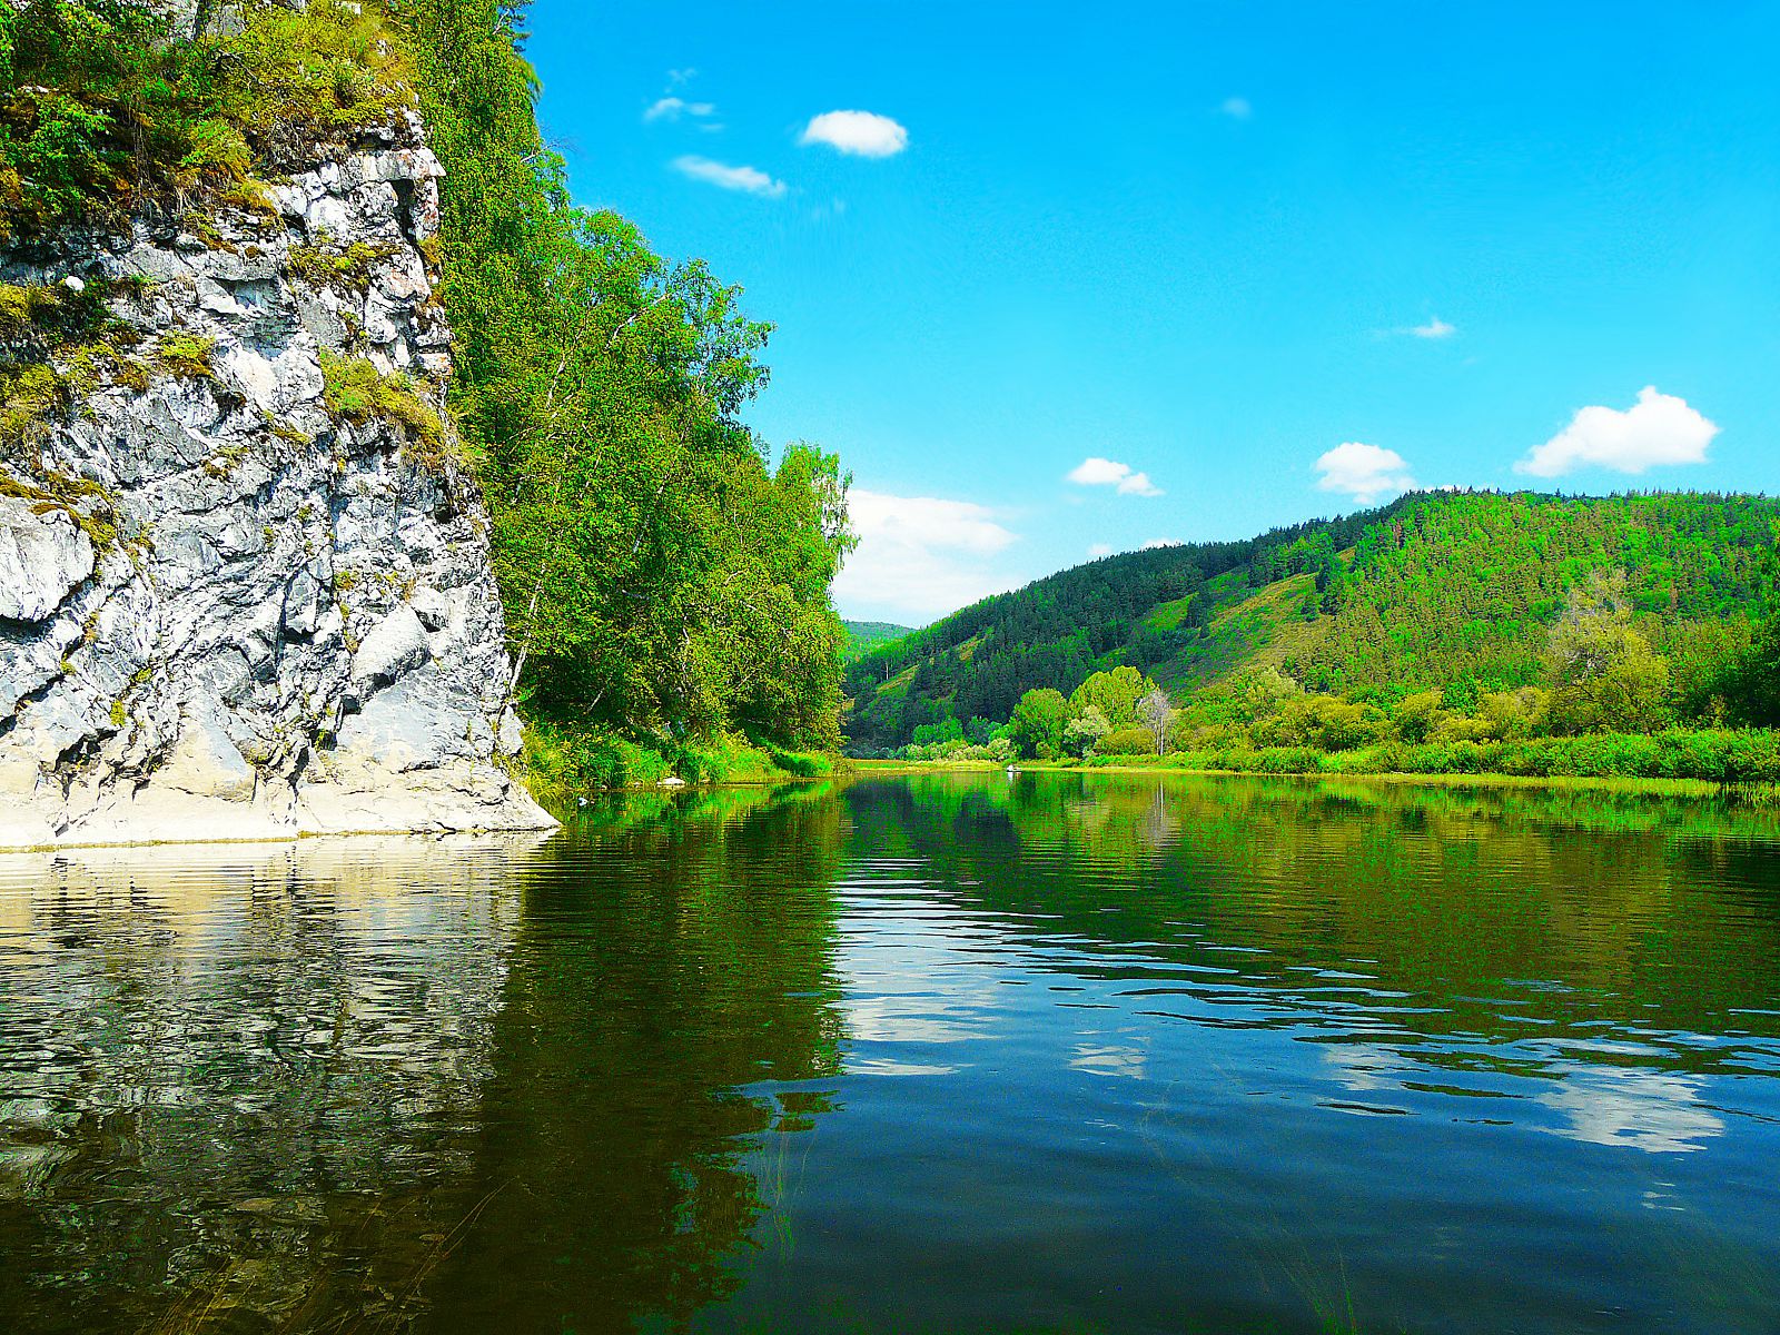
[[[1648,732],[1663,723],[1668,664],[1632,627],[1623,570],[1570,589],[1547,641],[1550,717],[1558,732]]]

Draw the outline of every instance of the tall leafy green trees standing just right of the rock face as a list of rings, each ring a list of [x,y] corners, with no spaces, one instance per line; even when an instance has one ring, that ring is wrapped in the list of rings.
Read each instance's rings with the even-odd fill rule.
[[[520,687],[550,717],[838,742],[847,477],[740,411],[771,326],[570,205],[518,53],[523,5],[409,0],[445,162],[457,406],[495,520]]]

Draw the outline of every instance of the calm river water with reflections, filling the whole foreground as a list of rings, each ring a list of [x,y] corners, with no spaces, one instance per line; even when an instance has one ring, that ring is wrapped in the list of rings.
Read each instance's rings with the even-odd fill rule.
[[[0,1330],[1780,1331],[1780,810],[940,774],[0,856]]]

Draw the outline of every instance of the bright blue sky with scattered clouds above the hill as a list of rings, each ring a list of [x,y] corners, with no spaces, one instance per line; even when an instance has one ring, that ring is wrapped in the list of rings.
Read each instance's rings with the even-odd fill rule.
[[[778,324],[751,422],[854,473],[847,616],[1410,484],[1780,490],[1776,4],[530,28],[577,201]]]

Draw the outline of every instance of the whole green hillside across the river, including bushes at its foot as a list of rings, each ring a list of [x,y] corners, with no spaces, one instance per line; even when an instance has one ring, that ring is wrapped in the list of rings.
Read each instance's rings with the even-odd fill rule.
[[[849,732],[862,755],[1086,756],[1771,724],[1776,534],[1764,497],[1426,493],[1105,557],[851,664]],[[1080,692],[1114,673],[1130,700],[1084,740]]]

